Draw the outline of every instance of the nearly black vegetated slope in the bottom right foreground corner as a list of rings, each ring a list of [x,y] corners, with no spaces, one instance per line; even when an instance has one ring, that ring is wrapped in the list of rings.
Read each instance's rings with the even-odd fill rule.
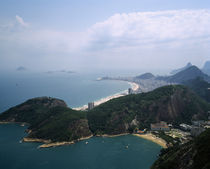
[[[193,141],[162,150],[151,169],[208,169],[210,168],[210,129]]]

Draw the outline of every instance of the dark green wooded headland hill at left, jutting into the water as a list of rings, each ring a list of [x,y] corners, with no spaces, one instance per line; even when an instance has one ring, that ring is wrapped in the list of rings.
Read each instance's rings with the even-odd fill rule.
[[[73,141],[90,136],[86,112],[67,108],[62,100],[41,97],[30,99],[0,114],[0,121],[26,122],[27,137],[56,141]]]

